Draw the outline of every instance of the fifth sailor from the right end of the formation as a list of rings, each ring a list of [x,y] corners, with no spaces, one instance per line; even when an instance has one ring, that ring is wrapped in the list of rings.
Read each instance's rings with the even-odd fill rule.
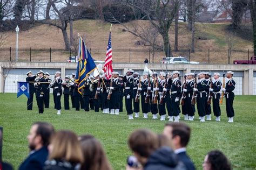
[[[194,73],[187,74],[187,86],[183,89],[186,97],[184,100],[184,107],[186,108],[187,120],[193,121],[194,120],[194,108],[191,104],[192,96],[193,96],[193,89],[194,89],[194,80],[193,80]]]

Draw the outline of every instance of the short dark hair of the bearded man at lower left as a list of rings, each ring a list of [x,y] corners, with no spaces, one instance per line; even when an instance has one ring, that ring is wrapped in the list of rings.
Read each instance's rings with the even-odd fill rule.
[[[46,122],[36,122],[33,126],[37,126],[36,135],[41,137],[41,143],[43,146],[48,146],[50,144],[50,139],[55,130],[53,126]]]

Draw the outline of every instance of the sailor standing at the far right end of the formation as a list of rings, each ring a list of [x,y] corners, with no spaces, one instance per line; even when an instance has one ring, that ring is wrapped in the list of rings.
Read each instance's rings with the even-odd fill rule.
[[[233,108],[233,101],[234,101],[234,93],[233,90],[235,89],[235,81],[232,78],[234,72],[228,71],[227,72],[227,82],[225,88],[221,88],[225,92],[226,97],[226,112],[228,117],[228,122],[234,122],[234,108]]]

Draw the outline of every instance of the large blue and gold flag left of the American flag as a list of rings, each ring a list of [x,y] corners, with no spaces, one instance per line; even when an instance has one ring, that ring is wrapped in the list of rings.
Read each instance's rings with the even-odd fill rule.
[[[84,87],[85,80],[87,76],[96,69],[95,62],[92,59],[90,52],[87,50],[82,37],[79,38],[79,48],[78,48],[78,63],[77,63],[77,73],[76,82],[78,83],[78,92],[82,94],[82,89]]]

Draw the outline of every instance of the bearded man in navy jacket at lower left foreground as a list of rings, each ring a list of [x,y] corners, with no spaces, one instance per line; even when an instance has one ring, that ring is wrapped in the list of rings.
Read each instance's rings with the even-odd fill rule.
[[[54,133],[53,126],[45,122],[36,122],[32,125],[28,135],[29,148],[28,158],[19,166],[19,170],[40,170],[48,157],[48,145]]]

